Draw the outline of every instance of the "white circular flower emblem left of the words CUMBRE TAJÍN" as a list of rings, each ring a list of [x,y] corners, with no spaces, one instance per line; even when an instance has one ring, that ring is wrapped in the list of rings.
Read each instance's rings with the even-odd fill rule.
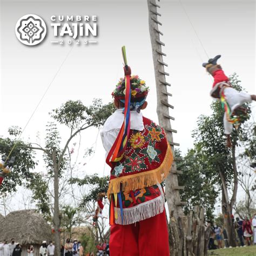
[[[37,45],[46,36],[46,25],[41,17],[27,14],[16,23],[15,33],[19,42],[25,45]]]

